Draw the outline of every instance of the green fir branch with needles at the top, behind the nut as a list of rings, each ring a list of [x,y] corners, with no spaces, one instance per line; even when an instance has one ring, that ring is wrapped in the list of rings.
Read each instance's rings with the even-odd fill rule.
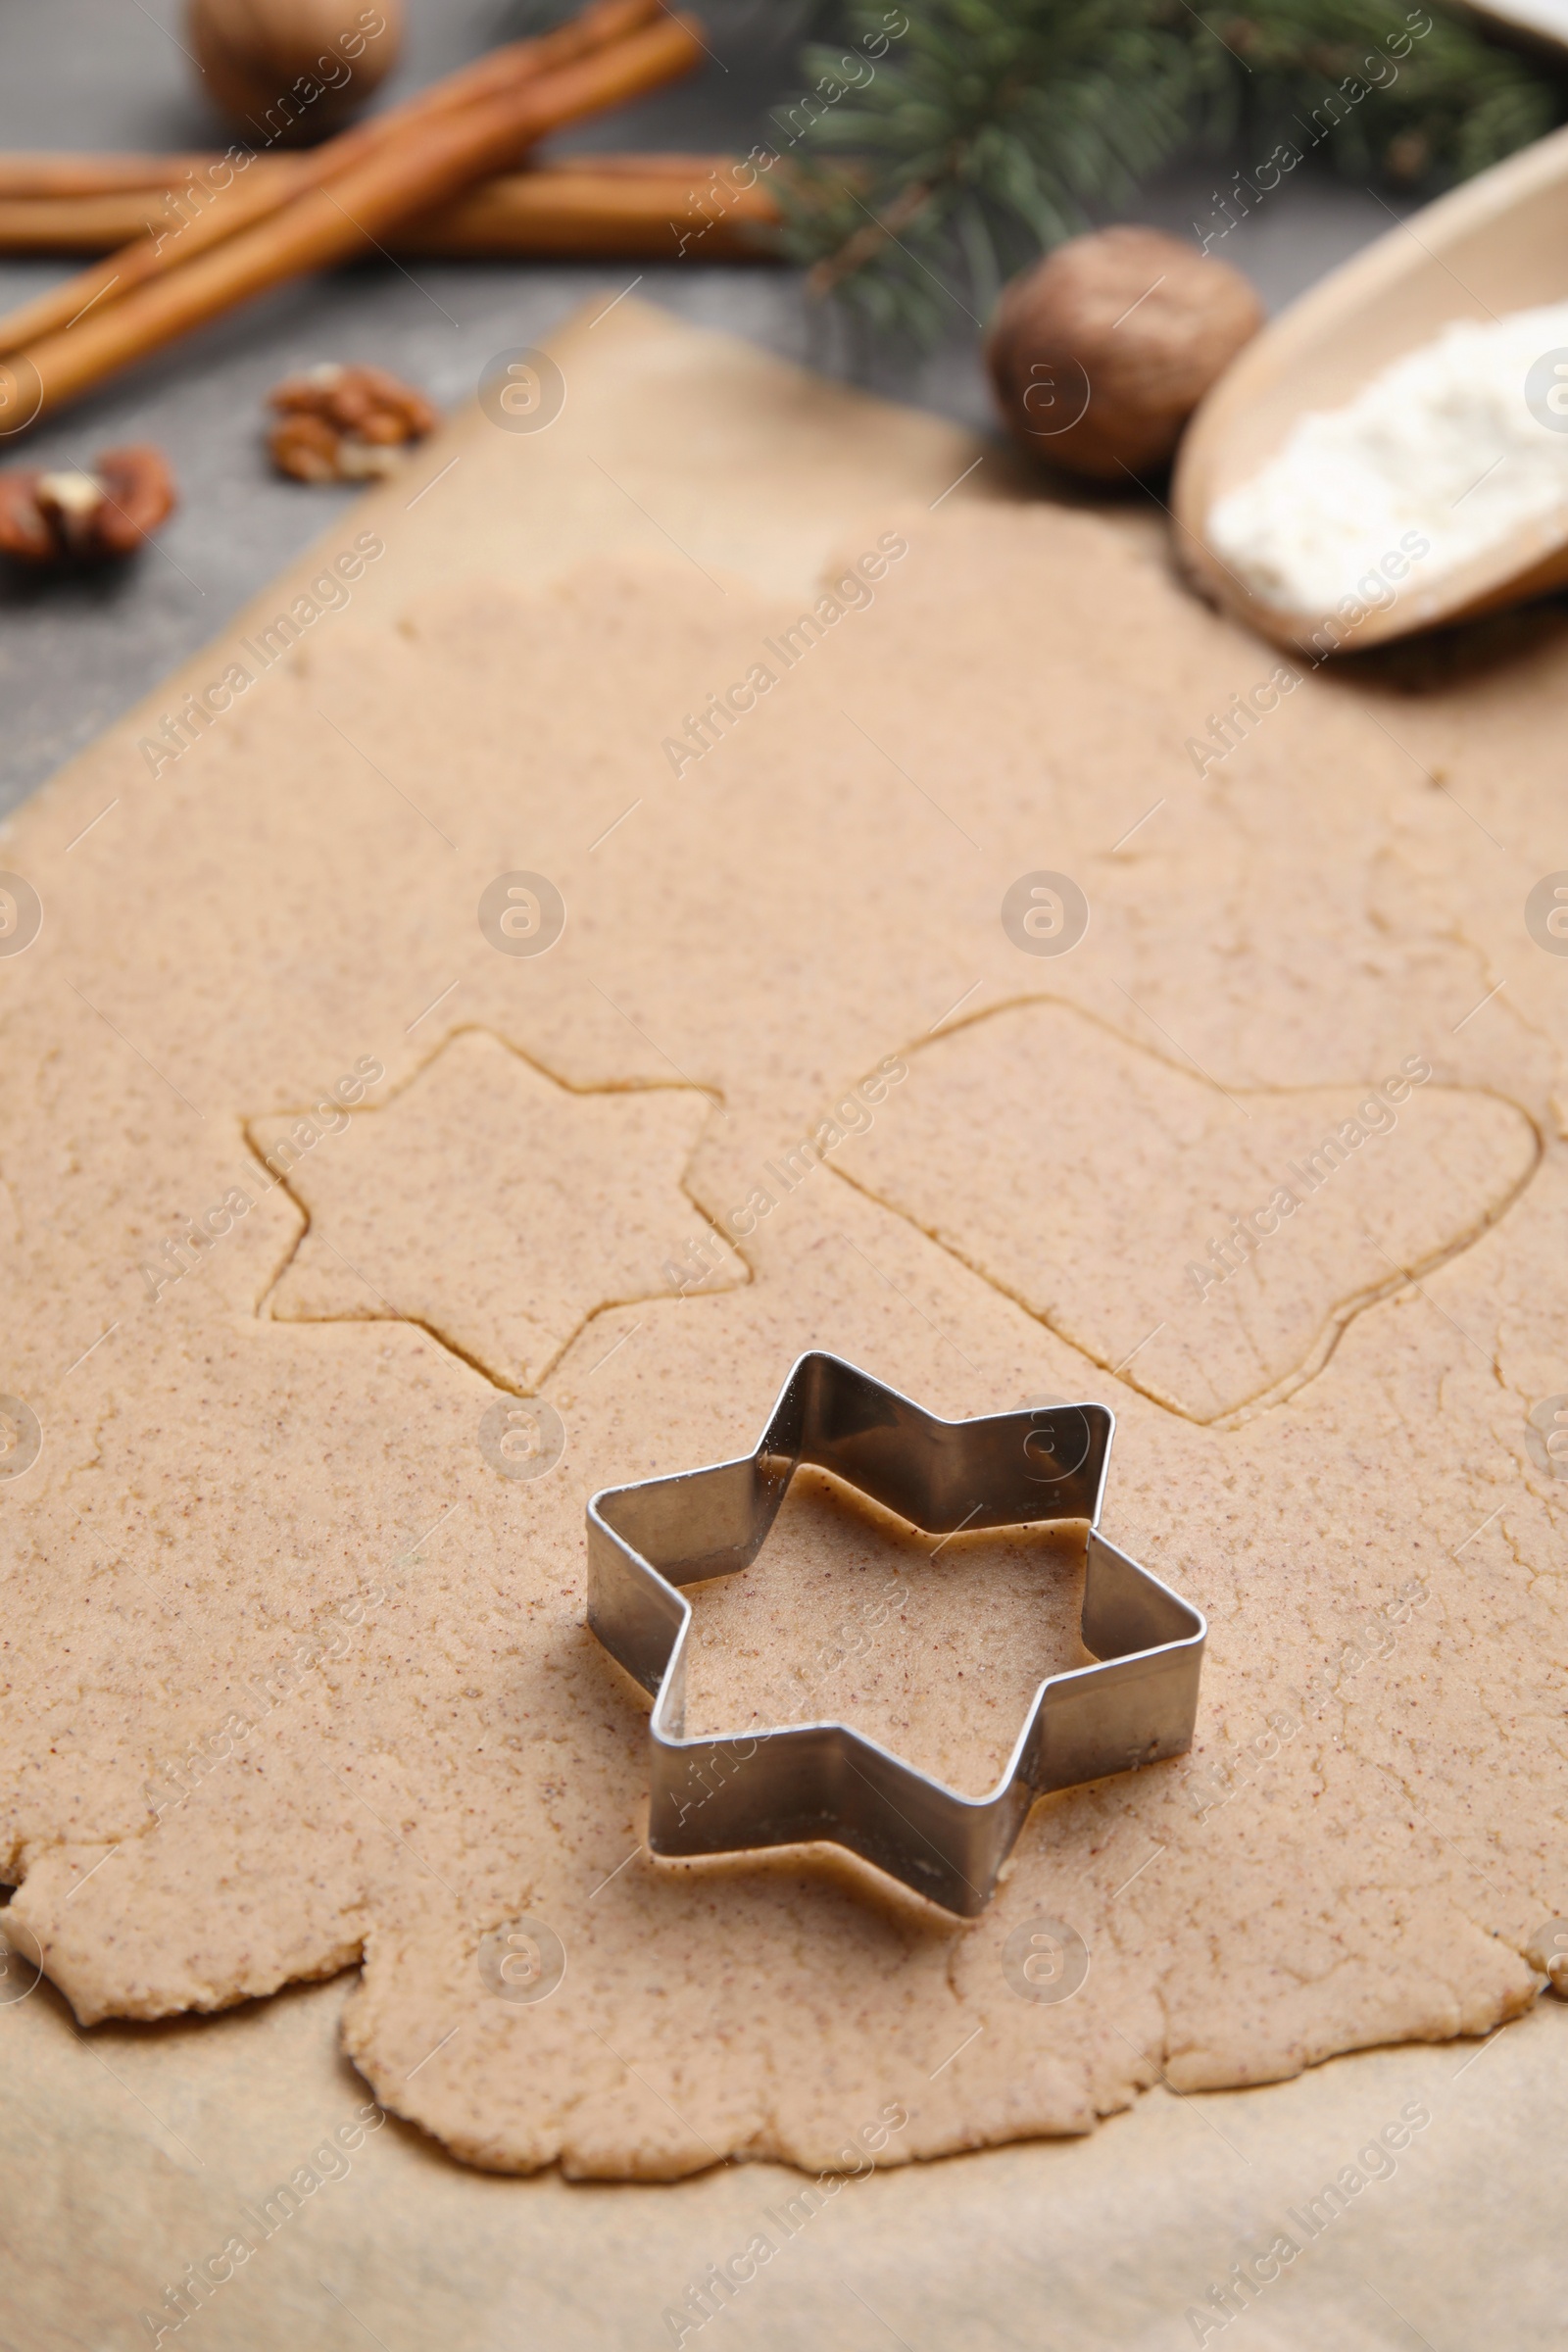
[[[1441,0],[846,0],[835,28],[773,108],[780,245],[919,341],[1197,143],[1436,186],[1568,111]]]

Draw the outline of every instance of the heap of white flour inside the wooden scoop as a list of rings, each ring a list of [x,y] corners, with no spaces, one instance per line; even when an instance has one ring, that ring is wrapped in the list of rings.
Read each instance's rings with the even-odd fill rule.
[[[1307,412],[1262,473],[1215,501],[1208,539],[1265,604],[1331,614],[1401,543],[1425,583],[1561,506],[1568,303],[1549,303],[1455,320],[1347,407]]]

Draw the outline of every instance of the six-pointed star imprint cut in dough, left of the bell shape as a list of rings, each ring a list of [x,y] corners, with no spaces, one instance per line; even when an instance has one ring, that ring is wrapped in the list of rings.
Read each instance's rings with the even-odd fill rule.
[[[712,1240],[682,1192],[710,1108],[696,1087],[574,1094],[463,1030],[343,1124],[320,1110],[252,1120],[308,1214],[266,1308],[280,1322],[416,1322],[503,1388],[534,1390],[592,1315],[668,1296],[665,1265]],[[736,1282],[745,1265],[729,1254],[705,1287]]]

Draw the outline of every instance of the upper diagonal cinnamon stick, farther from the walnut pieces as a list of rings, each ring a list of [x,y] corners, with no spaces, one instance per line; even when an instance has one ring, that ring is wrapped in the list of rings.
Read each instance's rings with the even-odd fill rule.
[[[402,106],[371,115],[367,122],[303,155],[254,155],[244,165],[216,158],[207,179],[186,179],[165,188],[162,221],[150,233],[132,233],[134,242],[110,254],[92,270],[80,270],[47,294],[35,296],[0,318],[0,350],[19,350],[82,318],[92,306],[122,301],[134,287],[181,268],[254,221],[266,221],[294,195],[324,188],[350,172],[362,158],[402,141],[449,113],[515,89],[541,73],[569,66],[658,16],[658,0],[592,0],[581,16],[536,40],[508,42],[473,66],[449,73]],[[510,162],[512,158],[503,158]],[[214,186],[212,172],[228,172]],[[186,212],[186,205],[190,207]],[[200,209],[197,209],[200,207]]]

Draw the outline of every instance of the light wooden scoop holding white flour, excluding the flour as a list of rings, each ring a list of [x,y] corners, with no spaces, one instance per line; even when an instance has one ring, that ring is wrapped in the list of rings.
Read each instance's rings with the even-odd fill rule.
[[[1568,299],[1568,129],[1540,139],[1427,205],[1333,270],[1225,369],[1187,426],[1171,508],[1197,586],[1276,644],[1331,652],[1326,616],[1255,597],[1208,546],[1215,499],[1248,482],[1307,409],[1340,409],[1448,320],[1490,320]],[[1434,581],[1420,567],[1392,604],[1349,628],[1361,652],[1418,628],[1467,621],[1568,581],[1568,503],[1521,524]],[[1316,642],[1314,642],[1316,633]]]

